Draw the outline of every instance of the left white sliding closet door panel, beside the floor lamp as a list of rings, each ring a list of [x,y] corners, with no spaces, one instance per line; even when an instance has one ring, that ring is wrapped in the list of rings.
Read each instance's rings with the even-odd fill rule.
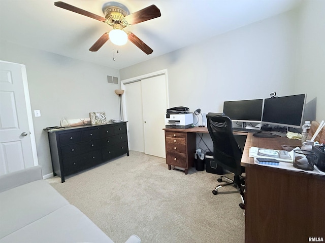
[[[129,149],[145,152],[141,82],[125,85],[124,98],[128,121]]]

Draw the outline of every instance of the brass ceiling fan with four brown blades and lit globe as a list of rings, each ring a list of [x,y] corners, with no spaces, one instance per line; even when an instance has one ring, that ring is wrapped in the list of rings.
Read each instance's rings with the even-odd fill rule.
[[[109,2],[103,6],[105,17],[90,13],[86,10],[63,2],[55,2],[54,5],[56,7],[66,9],[77,14],[87,16],[89,18],[99,20],[113,27],[111,31],[104,33],[98,39],[98,41],[96,41],[92,47],[90,47],[89,51],[91,52],[98,51],[109,39],[111,39],[111,42],[113,44],[119,46],[124,45],[128,39],[147,55],[153,52],[153,50],[148,47],[143,41],[141,41],[141,39],[134,33],[125,32],[124,27],[160,17],[160,10],[155,5],[151,5],[135,13],[129,14],[127,8],[124,5],[116,2]],[[124,39],[121,40],[121,38]]]

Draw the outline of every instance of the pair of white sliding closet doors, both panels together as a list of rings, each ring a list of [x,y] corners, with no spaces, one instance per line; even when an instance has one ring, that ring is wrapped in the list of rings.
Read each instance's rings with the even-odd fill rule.
[[[166,75],[125,83],[129,149],[165,158]]]

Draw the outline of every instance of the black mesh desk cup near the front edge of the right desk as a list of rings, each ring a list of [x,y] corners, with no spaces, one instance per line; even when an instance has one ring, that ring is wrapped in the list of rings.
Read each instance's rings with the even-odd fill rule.
[[[294,167],[304,171],[313,171],[316,155],[312,151],[296,149],[294,151]]]

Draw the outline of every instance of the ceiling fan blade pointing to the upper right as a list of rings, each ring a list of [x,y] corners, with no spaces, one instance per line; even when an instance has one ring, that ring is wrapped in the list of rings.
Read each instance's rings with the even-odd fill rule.
[[[155,5],[151,5],[147,8],[125,16],[124,20],[128,24],[138,24],[150,19],[158,18],[160,16],[160,10]]]

